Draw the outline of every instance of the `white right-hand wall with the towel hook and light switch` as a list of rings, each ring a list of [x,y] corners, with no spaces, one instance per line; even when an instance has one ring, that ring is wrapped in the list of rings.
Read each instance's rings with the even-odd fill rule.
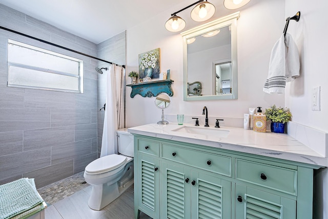
[[[290,22],[288,32],[292,34],[300,51],[300,77],[286,86],[285,105],[291,108],[293,121],[328,132],[328,74],[327,54],[328,30],[326,9],[328,1],[289,0],[285,2],[285,17],[301,12],[298,23]],[[314,86],[321,86],[321,111],[312,111],[311,92]],[[316,207],[314,218],[328,218],[328,170],[315,173]]]

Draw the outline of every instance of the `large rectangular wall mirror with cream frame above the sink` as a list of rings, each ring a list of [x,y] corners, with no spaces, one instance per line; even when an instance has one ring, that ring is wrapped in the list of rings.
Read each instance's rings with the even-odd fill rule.
[[[237,99],[239,12],[182,32],[183,100]]]

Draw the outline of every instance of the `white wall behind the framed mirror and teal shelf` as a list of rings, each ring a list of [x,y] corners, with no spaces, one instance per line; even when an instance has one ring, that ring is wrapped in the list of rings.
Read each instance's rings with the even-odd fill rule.
[[[217,11],[211,20],[235,12],[224,9],[222,1],[216,2],[218,2],[215,5]],[[212,3],[215,4],[215,1]],[[283,95],[269,95],[262,92],[264,81],[268,76],[272,47],[284,28],[284,0],[253,0],[240,10],[237,27],[238,99],[216,101],[183,101],[182,37],[180,33],[167,31],[164,24],[172,12],[189,4],[189,1],[185,1],[184,4],[176,5],[169,11],[127,30],[127,72],[138,70],[138,54],[155,48],[160,48],[161,71],[171,69],[174,95],[165,114],[201,115],[202,107],[207,106],[210,116],[242,118],[244,113],[248,113],[249,107],[265,108],[272,104],[284,106]],[[190,10],[179,13],[179,16],[187,22],[186,30],[203,24],[189,21]],[[130,92],[131,87],[127,87],[127,94]],[[128,95],[127,127],[160,120],[161,112],[156,108],[154,99],[140,95],[130,98]]]

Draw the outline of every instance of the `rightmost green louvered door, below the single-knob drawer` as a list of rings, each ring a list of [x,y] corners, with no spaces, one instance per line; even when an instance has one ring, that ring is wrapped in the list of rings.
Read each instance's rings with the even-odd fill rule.
[[[296,201],[236,184],[236,219],[295,219]]]

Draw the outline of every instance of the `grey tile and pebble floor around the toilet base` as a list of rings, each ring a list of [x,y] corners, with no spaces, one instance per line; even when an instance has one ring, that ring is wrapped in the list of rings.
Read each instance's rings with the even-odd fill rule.
[[[78,173],[80,174],[80,173]],[[56,182],[47,187],[38,189],[39,193],[43,193],[44,200],[50,204],[45,210],[46,219],[132,219],[134,218],[134,192],[133,185],[119,196],[115,201],[101,209],[95,211],[89,208],[88,199],[92,186],[82,183],[81,176],[74,176],[64,179],[62,182]],[[77,176],[76,176],[77,175]],[[72,178],[74,180],[72,181]],[[83,179],[84,181],[84,179]],[[82,182],[83,182],[82,181]],[[67,182],[71,182],[70,186]],[[82,186],[81,186],[82,185]],[[53,187],[51,187],[53,186]],[[78,188],[74,191],[72,188]],[[48,190],[48,194],[46,191]],[[65,190],[65,191],[64,191]],[[59,192],[58,192],[59,191]],[[52,198],[56,200],[51,200]],[[140,219],[150,219],[148,215],[140,213]]]

